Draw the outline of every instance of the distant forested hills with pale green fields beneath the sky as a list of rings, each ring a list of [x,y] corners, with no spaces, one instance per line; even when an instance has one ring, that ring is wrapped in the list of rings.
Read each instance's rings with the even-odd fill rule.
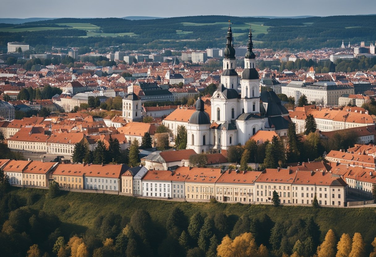
[[[235,44],[246,44],[252,24],[255,48],[311,50],[376,40],[376,15],[255,18],[231,17]],[[103,48],[125,50],[224,47],[227,16],[207,15],[154,20],[122,18],[59,18],[24,24],[0,23],[0,47],[27,42],[33,47]]]

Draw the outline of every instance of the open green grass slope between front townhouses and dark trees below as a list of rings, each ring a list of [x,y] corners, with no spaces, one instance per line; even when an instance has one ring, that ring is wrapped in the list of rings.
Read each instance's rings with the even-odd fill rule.
[[[53,199],[46,199],[47,190],[31,188],[12,188],[12,195],[25,201],[30,194],[37,194],[38,201],[30,207],[34,210],[44,210],[59,217],[64,226],[62,231],[70,234],[73,231],[82,233],[93,228],[95,219],[100,215],[106,215],[109,211],[120,214],[130,219],[137,209],[144,209],[156,224],[164,227],[166,217],[174,207],[179,207],[190,217],[196,212],[206,215],[214,215],[223,212],[235,222],[242,215],[252,217],[267,214],[273,222],[286,221],[294,218],[305,219],[312,216],[318,223],[321,230],[321,241],[329,229],[333,229],[339,238],[342,233],[360,232],[367,244],[370,244],[376,235],[376,208],[329,208],[302,206],[281,206],[271,205],[250,205],[250,204],[226,204],[226,203],[188,203],[164,200],[149,200],[136,197],[119,195],[74,193],[63,191],[61,196]],[[351,220],[351,222],[349,222]]]

